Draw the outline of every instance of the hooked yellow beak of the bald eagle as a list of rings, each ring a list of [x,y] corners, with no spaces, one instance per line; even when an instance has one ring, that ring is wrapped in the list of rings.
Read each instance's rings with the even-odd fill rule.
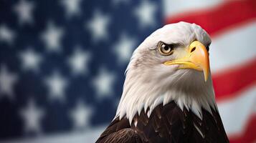
[[[163,64],[180,64],[179,69],[196,69],[204,72],[204,81],[207,82],[209,76],[209,53],[204,44],[200,41],[193,41],[189,45],[186,56],[173,61],[166,61]]]

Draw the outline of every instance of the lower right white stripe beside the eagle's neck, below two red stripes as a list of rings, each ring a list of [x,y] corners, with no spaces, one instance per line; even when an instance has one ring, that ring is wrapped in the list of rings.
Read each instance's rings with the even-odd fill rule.
[[[218,103],[219,114],[227,134],[239,134],[245,129],[250,115],[255,114],[256,85],[235,99]]]

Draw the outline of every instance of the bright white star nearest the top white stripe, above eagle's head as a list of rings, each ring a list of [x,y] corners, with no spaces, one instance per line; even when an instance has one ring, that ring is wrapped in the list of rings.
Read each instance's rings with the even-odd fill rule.
[[[135,9],[135,14],[140,21],[141,28],[146,26],[154,26],[154,16],[156,13],[156,5],[150,1],[143,0],[141,5]]]

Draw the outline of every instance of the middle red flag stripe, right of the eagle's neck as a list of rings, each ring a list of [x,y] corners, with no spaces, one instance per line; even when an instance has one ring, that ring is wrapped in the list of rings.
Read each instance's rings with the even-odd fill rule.
[[[235,97],[239,95],[237,92],[252,84],[256,84],[255,73],[256,59],[251,59],[234,68],[213,74],[212,79],[217,101]]]

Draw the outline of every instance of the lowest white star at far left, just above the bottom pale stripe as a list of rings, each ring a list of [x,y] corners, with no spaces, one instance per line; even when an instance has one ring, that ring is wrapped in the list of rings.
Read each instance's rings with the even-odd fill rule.
[[[24,120],[24,131],[39,133],[41,132],[40,122],[44,115],[44,111],[36,107],[34,100],[30,99],[27,107],[19,112]]]

